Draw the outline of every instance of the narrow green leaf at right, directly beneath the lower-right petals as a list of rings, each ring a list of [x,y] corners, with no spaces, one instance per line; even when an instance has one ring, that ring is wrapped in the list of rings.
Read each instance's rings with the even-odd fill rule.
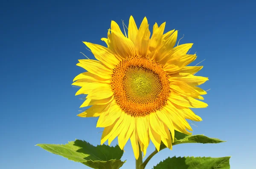
[[[205,135],[187,135],[181,132],[178,132],[175,130],[175,135],[174,135],[174,142],[172,145],[177,145],[177,144],[183,144],[183,143],[202,143],[202,144],[207,144],[207,143],[222,143],[226,141],[222,141],[218,138],[209,138]],[[166,146],[163,144],[163,142],[160,145],[160,149],[164,149]]]

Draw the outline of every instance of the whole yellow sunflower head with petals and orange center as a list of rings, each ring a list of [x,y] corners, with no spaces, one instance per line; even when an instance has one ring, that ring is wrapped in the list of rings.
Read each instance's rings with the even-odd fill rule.
[[[136,159],[150,140],[158,151],[161,142],[172,149],[175,130],[191,134],[186,119],[202,120],[190,108],[208,106],[198,100],[206,91],[196,87],[208,78],[194,76],[203,66],[187,66],[197,57],[187,54],[193,44],[175,47],[177,31],[163,34],[165,25],[155,23],[150,38],[146,17],[138,29],[131,16],[127,37],[112,21],[102,38],[107,48],[84,42],[97,60],[79,60],[87,72],[72,84],[81,87],[76,95],[87,95],[81,107],[91,106],[78,116],[99,117],[96,127],[105,127],[101,144],[118,137],[123,149],[130,138]]]

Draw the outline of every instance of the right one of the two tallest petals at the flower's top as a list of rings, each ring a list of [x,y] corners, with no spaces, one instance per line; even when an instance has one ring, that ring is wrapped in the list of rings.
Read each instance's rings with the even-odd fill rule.
[[[140,28],[137,32],[136,41],[134,43],[137,56],[147,56],[149,37],[150,31],[148,29],[148,20],[146,17],[144,17],[140,25]]]

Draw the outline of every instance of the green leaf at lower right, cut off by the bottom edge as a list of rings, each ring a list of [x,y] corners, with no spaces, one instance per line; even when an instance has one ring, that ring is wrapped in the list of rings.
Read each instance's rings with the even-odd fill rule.
[[[154,169],[230,169],[230,157],[168,157]]]

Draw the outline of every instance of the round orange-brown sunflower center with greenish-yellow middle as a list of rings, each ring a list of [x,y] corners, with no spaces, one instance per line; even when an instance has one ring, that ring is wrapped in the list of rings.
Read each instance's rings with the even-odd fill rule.
[[[137,56],[116,66],[111,87],[116,103],[132,116],[145,116],[161,109],[170,93],[168,76],[162,66]]]

